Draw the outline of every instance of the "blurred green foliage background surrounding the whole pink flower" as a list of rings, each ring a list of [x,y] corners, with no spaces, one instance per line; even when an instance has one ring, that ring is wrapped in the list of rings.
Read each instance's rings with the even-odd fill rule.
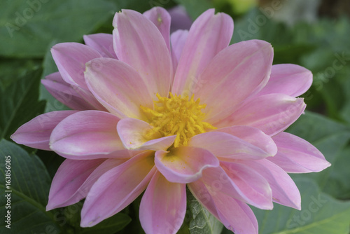
[[[63,158],[18,146],[9,137],[41,113],[66,109],[40,83],[57,71],[50,55],[55,43],[83,43],[84,34],[111,33],[113,15],[122,8],[142,13],[154,6],[177,5],[184,6],[192,20],[208,8],[230,14],[235,21],[232,43],[268,41],[274,47],[274,64],[300,64],[314,74],[303,95],[307,111],[288,131],[314,144],[332,166],[316,174],[292,175],[302,193],[302,211],[280,205],[268,212],[253,209],[259,233],[348,234],[350,1],[346,0],[1,0],[0,164],[6,155],[13,156],[12,233],[143,233],[139,200],[94,228],[79,227],[81,202],[45,212],[50,181]],[[4,191],[4,175],[0,176]],[[2,204],[3,195],[1,217],[6,212]],[[1,221],[0,233],[11,233],[5,225]],[[221,228],[189,195],[179,233],[216,234]]]

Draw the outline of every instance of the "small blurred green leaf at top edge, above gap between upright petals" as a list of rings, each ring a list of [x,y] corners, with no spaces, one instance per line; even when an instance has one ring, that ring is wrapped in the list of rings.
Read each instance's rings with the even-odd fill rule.
[[[210,0],[175,0],[178,4],[185,6],[186,12],[190,15],[190,18],[195,20],[204,11],[209,8],[214,8],[213,3]]]

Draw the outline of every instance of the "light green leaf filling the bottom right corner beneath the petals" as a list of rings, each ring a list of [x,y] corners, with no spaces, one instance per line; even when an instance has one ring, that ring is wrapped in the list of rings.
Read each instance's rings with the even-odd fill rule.
[[[321,193],[311,179],[297,179],[302,210],[274,204],[265,211],[253,207],[260,234],[349,234],[350,202],[335,200]]]

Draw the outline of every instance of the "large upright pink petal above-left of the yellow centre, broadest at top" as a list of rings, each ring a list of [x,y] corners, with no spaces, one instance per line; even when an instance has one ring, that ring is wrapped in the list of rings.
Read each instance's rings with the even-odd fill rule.
[[[137,70],[149,95],[167,97],[172,57],[159,29],[146,16],[122,10],[113,19],[113,45],[119,60]]]

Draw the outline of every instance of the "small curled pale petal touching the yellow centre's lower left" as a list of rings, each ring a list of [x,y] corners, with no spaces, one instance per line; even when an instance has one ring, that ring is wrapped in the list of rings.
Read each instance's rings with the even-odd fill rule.
[[[174,143],[176,135],[170,137],[158,137],[148,139],[147,131],[153,127],[144,121],[136,118],[123,118],[119,121],[117,130],[125,148],[127,149],[151,149],[166,150]]]

